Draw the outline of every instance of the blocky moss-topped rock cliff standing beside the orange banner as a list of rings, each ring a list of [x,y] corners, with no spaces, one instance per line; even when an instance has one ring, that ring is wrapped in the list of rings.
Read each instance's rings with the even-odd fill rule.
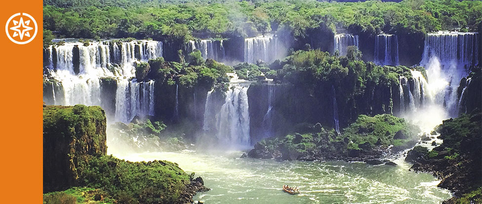
[[[79,162],[106,152],[106,117],[100,107],[43,108],[44,192],[78,184]]]

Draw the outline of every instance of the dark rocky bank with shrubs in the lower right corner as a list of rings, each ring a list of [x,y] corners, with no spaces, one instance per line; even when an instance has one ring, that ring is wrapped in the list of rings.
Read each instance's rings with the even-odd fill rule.
[[[444,120],[436,128],[442,145],[428,151],[415,146],[405,161],[414,163],[415,171],[433,171],[442,179],[438,187],[449,189],[458,198],[447,203],[480,203],[482,199],[481,142],[482,113],[475,109],[470,114]]]

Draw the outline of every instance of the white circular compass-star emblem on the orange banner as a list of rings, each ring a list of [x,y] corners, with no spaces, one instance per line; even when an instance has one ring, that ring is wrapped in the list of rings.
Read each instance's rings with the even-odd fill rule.
[[[12,42],[27,44],[37,35],[37,22],[27,13],[16,13],[8,19],[5,32]]]

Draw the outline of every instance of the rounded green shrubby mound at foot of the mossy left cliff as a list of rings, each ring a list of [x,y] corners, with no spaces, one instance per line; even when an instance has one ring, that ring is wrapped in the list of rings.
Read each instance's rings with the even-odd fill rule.
[[[99,188],[119,203],[175,203],[189,175],[167,161],[128,162],[113,156],[80,164],[82,185]]]

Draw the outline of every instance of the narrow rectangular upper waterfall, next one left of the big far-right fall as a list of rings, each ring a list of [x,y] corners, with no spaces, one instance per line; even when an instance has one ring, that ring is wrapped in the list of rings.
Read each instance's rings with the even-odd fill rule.
[[[375,64],[399,65],[399,42],[397,35],[378,34],[375,37]]]

